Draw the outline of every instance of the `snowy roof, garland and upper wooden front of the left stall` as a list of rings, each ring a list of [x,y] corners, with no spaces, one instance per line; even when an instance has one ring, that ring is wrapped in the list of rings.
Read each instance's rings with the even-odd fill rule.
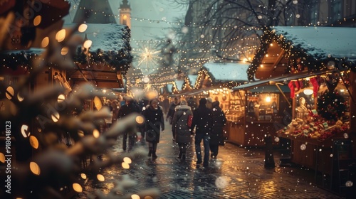
[[[92,82],[99,88],[123,88],[130,68],[130,29],[112,23],[87,23],[78,33],[85,40],[78,48],[74,70],[68,71],[72,85]]]

